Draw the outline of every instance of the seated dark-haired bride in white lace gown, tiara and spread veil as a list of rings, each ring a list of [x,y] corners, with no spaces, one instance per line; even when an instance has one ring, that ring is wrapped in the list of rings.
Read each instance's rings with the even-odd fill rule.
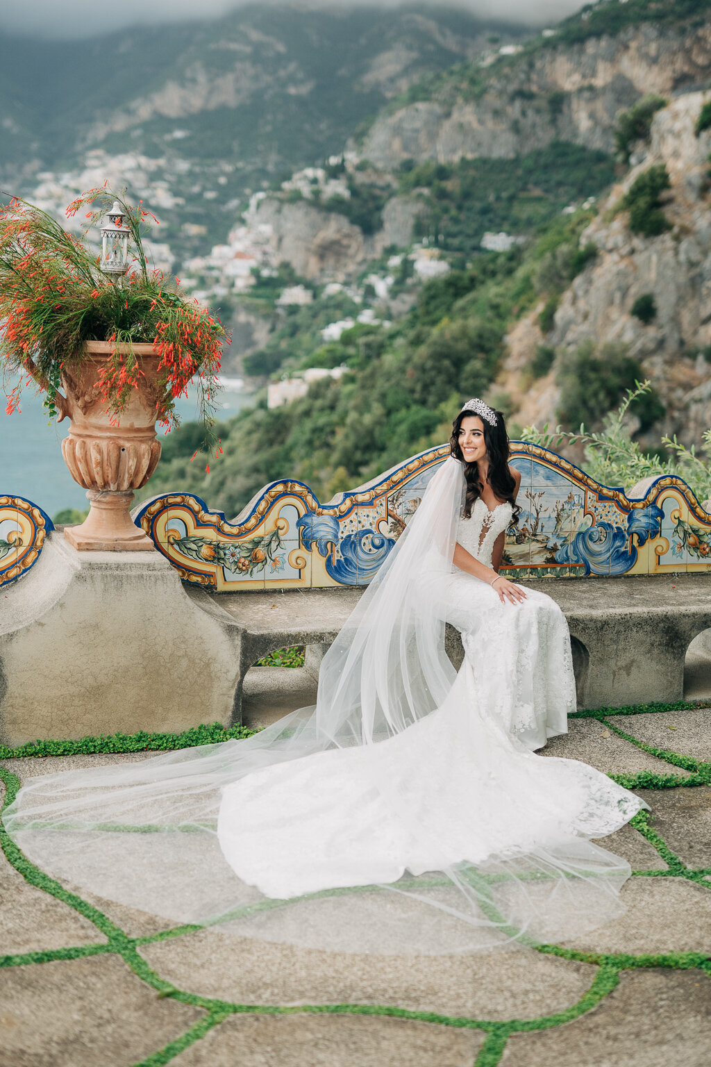
[[[490,951],[619,914],[630,867],[595,839],[644,803],[535,754],[566,732],[575,680],[558,605],[498,574],[519,512],[507,461],[502,413],[467,401],[314,707],[246,740],[29,779],[5,814],[17,845],[172,921],[346,952]]]

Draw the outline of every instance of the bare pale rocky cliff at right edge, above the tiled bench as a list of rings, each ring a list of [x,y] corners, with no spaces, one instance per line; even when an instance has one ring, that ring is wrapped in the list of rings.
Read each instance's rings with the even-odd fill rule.
[[[538,306],[510,333],[500,386],[510,392],[518,423],[558,421],[561,360],[592,340],[624,346],[662,397],[666,415],[650,431],[649,444],[659,443],[660,430],[698,442],[711,426],[711,130],[695,132],[709,99],[708,91],[688,93],[657,112],[649,144],[637,148],[634,165],[581,234],[581,245],[593,243],[598,254],[563,293],[552,329],[542,332]],[[653,165],[665,166],[669,176],[663,210],[670,228],[644,237],[630,229],[623,197]],[[647,323],[632,310],[641,297],[651,297],[656,309]],[[544,343],[558,356],[531,385],[526,370]]]

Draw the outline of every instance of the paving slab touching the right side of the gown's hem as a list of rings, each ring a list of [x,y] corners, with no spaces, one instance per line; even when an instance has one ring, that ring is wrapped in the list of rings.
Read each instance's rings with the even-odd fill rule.
[[[644,716],[616,716],[624,719],[621,729],[632,733],[629,721]],[[659,716],[646,716],[659,718]],[[627,724],[626,724],[627,723]],[[681,767],[674,767],[656,755],[649,755],[631,742],[618,737],[599,719],[569,719],[568,733],[551,737],[540,755],[559,755],[565,760],[582,760],[605,775],[635,775],[640,770],[655,770],[660,775],[686,775]]]

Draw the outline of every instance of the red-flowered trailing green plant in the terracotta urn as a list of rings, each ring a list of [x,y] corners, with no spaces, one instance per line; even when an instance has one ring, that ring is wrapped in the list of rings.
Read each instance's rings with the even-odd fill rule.
[[[100,257],[85,243],[88,228],[114,201],[125,213],[133,257],[125,275],[103,274]],[[150,220],[157,220],[141,204],[132,207],[123,194],[103,187],[78,196],[67,217],[81,208],[88,208],[82,237],[19,197],[0,208],[0,359],[6,372],[20,373],[19,384],[5,389],[7,413],[17,409],[22,385],[34,381],[55,416],[62,367],[70,370],[86,359],[84,341],[106,340],[113,351],[96,384],[118,419],[143,377],[133,344],[149,343],[160,356],[157,421],[166,430],[178,424],[175,401],[187,396],[195,379],[210,448],[220,356],[227,340],[222,323],[191,302],[177,278],[171,283],[149,270],[143,236]]]

